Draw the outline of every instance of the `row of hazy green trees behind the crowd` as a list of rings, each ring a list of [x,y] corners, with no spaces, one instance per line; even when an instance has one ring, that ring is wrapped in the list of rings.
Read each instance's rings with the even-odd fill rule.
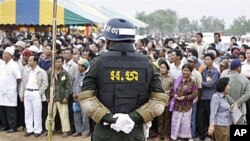
[[[195,33],[195,32],[224,32],[228,35],[242,35],[250,32],[250,19],[241,16],[234,20],[226,29],[225,21],[213,16],[202,16],[199,20],[190,20],[188,17],[179,17],[171,9],[157,10],[146,14],[140,12],[136,18],[149,24],[149,33]]]

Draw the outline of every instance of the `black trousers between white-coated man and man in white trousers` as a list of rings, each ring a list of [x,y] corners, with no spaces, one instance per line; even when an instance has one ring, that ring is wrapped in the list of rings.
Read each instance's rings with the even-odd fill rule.
[[[25,127],[24,121],[24,105],[20,101],[20,98],[17,98],[17,127]]]

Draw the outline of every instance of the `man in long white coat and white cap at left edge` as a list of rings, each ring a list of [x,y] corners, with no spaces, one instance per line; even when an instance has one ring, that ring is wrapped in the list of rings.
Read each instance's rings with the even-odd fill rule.
[[[0,118],[4,124],[1,130],[16,131],[17,126],[17,84],[21,81],[21,71],[13,61],[14,48],[7,47],[3,53],[4,63],[0,65]]]

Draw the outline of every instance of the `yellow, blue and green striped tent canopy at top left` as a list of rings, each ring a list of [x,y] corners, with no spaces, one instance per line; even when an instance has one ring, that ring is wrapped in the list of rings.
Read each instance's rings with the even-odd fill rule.
[[[0,25],[52,25],[52,0],[0,0]],[[58,4],[57,25],[87,25],[94,21]]]

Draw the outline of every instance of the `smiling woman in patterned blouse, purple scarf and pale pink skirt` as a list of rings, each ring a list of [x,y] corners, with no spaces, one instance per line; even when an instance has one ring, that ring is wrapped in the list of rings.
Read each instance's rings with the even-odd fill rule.
[[[182,75],[174,82],[173,98],[169,110],[173,111],[171,121],[171,138],[176,140],[190,139],[191,114],[193,99],[198,94],[195,81],[191,78],[192,67],[185,64],[182,67]]]

